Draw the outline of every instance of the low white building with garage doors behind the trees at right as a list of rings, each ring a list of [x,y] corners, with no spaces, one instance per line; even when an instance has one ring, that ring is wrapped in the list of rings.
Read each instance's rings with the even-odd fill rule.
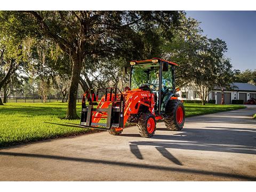
[[[249,83],[233,83],[232,90],[224,90],[225,104],[231,104],[232,100],[247,100],[256,99],[256,85]],[[201,100],[198,94],[191,87],[183,87],[179,92],[181,100]],[[207,101],[215,100],[216,104],[221,103],[221,90],[214,89],[207,97]]]

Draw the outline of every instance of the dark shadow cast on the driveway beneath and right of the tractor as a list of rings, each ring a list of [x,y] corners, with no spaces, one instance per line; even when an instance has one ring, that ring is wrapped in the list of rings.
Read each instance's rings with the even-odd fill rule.
[[[165,131],[166,134],[158,134],[163,131]],[[144,141],[130,141],[131,153],[138,159],[143,159],[139,147],[152,146],[155,147],[163,157],[177,165],[182,165],[182,163],[167,149],[218,151],[256,155],[256,129],[209,126],[204,129],[183,129],[182,131],[183,132],[171,132],[167,131],[165,128],[158,128],[154,137],[150,139]],[[170,135],[170,133],[172,134]],[[139,134],[121,134],[120,137],[121,136],[140,137]]]

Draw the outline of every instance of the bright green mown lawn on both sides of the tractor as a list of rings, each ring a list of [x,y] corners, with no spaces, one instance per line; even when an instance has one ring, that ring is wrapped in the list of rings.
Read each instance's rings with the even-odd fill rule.
[[[66,108],[67,104],[60,102],[7,103],[0,106],[0,147],[91,132],[90,129],[66,124],[79,124],[79,120],[60,119],[65,116]],[[244,106],[185,103],[186,117],[241,108]],[[81,103],[77,103],[77,111],[81,111]]]

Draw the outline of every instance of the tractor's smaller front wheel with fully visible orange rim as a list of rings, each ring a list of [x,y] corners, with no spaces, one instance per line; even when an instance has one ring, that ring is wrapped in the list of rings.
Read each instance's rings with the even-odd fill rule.
[[[156,119],[151,113],[142,114],[137,124],[141,137],[150,138],[156,131]]]

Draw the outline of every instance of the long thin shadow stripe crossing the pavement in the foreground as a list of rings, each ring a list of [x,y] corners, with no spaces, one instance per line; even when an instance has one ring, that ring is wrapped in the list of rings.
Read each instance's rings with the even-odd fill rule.
[[[188,174],[202,174],[202,175],[213,175],[215,177],[225,177],[232,179],[243,179],[256,181],[256,177],[242,174],[234,173],[223,173],[215,171],[204,171],[197,169],[186,169],[181,167],[168,167],[168,166],[159,166],[159,165],[147,165],[147,164],[137,164],[137,163],[126,163],[126,162],[116,162],[116,161],[107,161],[101,159],[91,159],[91,158],[77,158],[77,157],[64,157],[56,155],[42,155],[42,154],[27,154],[27,153],[13,153],[0,151],[0,155],[3,156],[14,156],[14,157],[30,157],[30,158],[44,158],[44,159],[57,159],[61,161],[73,161],[73,162],[82,162],[82,163],[93,163],[93,164],[105,164],[113,166],[123,166],[123,167],[135,167],[139,169],[148,169],[148,170],[162,170],[162,171],[172,171]]]

